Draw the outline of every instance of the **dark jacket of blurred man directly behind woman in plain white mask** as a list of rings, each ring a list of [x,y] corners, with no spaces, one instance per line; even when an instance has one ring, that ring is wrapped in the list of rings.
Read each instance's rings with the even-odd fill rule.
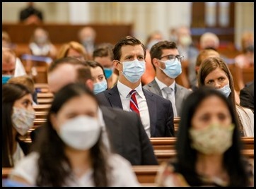
[[[100,109],[103,112],[103,119],[113,152],[120,154],[132,165],[158,164],[153,146],[136,113],[105,106],[100,106]],[[42,127],[30,133],[33,141]]]

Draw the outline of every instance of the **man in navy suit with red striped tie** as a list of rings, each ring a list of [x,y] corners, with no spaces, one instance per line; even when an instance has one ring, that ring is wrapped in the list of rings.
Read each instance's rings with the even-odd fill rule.
[[[105,106],[136,111],[149,138],[173,137],[171,102],[141,86],[141,75],[145,71],[144,44],[135,37],[127,36],[115,44],[113,53],[115,69],[120,73],[119,80],[112,89],[98,93],[98,100]]]

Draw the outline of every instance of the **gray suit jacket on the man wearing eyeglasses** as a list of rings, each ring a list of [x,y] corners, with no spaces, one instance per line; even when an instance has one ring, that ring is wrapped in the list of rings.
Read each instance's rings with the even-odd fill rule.
[[[151,81],[151,83],[143,86],[145,90],[149,90],[155,94],[160,95],[163,97],[160,87],[156,83],[156,80]],[[177,114],[180,116],[182,110],[182,102],[187,98],[187,96],[191,93],[191,90],[188,90],[181,85],[175,83],[175,106],[177,109]]]

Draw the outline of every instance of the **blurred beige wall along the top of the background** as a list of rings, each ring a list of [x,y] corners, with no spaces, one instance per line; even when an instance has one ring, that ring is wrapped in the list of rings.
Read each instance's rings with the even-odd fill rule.
[[[74,3],[75,4],[75,3]],[[81,3],[80,3],[81,4]],[[146,41],[146,37],[154,30],[160,30],[168,39],[170,28],[179,25],[190,25],[191,3],[84,3],[89,10],[90,20],[87,23],[133,23],[134,36]],[[42,2],[35,3],[37,8],[43,11],[47,23],[71,23],[70,15],[76,13],[76,9],[69,3]],[[26,6],[21,3],[2,3],[2,22],[18,22],[19,11]],[[78,5],[79,6],[79,5]],[[80,8],[81,9],[81,8]],[[78,8],[79,10],[79,8]],[[84,14],[81,14],[84,15]],[[240,35],[244,30],[254,30],[254,3],[238,2],[235,6],[235,44],[240,47]]]

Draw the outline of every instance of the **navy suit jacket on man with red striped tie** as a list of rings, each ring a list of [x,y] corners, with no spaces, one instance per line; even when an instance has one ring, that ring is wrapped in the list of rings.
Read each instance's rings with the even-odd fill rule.
[[[173,107],[169,100],[142,89],[149,107],[151,138],[174,137]],[[117,85],[110,90],[96,94],[103,106],[122,109]]]

